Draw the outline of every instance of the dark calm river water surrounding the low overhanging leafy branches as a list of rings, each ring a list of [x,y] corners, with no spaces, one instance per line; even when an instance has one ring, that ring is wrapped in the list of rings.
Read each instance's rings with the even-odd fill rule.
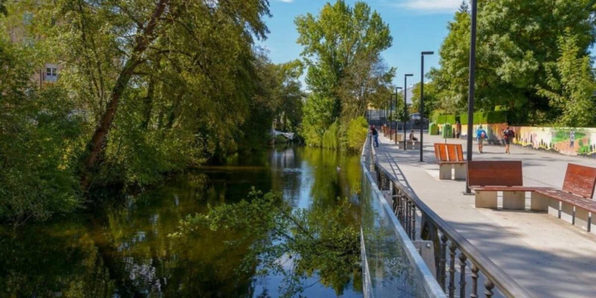
[[[171,237],[187,215],[241,201],[252,187],[278,191],[295,210],[305,210],[319,222],[316,235],[338,229],[316,217],[346,198],[340,225],[357,228],[360,184],[359,156],[278,147],[189,170],[95,215],[67,215],[17,231],[2,226],[0,297],[362,297],[357,266],[330,266],[323,257],[300,272],[288,260],[277,260],[289,267],[283,274],[261,272],[263,263],[241,270],[254,247],[230,244],[242,232],[205,228]]]

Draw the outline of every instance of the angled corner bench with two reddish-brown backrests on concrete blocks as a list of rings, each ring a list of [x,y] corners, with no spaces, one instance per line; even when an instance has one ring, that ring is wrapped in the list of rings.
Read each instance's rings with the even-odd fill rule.
[[[592,200],[596,168],[568,164],[563,189],[524,187],[522,162],[470,162],[468,186],[476,193],[476,207],[496,208],[496,193],[503,193],[503,209],[524,210],[526,192],[531,193],[530,210],[548,212],[591,230],[591,215],[596,214]]]

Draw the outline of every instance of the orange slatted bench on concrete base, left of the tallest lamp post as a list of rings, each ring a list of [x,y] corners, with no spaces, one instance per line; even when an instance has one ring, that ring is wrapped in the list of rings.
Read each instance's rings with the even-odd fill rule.
[[[454,169],[455,179],[465,179],[464,151],[461,144],[434,144],[434,157],[439,163],[439,179],[451,180],[451,169]]]

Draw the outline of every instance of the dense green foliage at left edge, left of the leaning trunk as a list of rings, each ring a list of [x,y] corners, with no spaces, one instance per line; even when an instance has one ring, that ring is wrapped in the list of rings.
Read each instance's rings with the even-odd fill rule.
[[[79,206],[77,148],[86,125],[61,88],[30,86],[27,49],[0,38],[0,222]]]

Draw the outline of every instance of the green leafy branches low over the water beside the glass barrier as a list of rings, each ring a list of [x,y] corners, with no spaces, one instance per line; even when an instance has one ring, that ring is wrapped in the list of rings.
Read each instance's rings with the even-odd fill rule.
[[[250,243],[243,270],[283,276],[284,296],[300,293],[306,286],[303,280],[315,274],[339,295],[350,281],[359,282],[360,251],[358,226],[346,216],[352,207],[346,200],[336,203],[334,209],[293,210],[279,194],[253,192],[250,200],[188,218],[174,236],[184,238],[203,227],[243,231],[244,237],[228,243]]]

